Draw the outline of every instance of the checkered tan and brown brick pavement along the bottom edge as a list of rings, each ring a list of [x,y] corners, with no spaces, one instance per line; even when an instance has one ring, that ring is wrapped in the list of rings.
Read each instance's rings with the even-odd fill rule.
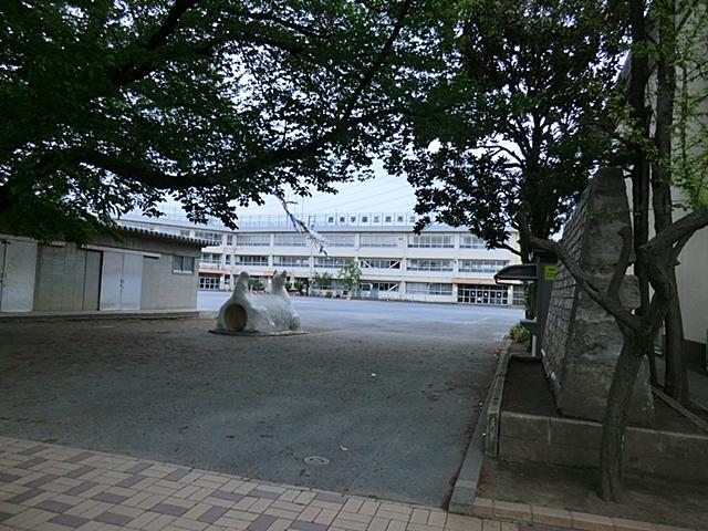
[[[476,509],[488,518],[0,437],[0,531],[523,531],[503,520],[524,514],[590,531],[677,529],[491,500]]]

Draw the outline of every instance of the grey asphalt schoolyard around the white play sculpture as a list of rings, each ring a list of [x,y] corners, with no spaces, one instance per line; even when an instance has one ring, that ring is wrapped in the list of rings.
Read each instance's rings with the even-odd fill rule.
[[[290,337],[0,321],[0,435],[441,507],[520,312],[295,304],[309,333]]]

